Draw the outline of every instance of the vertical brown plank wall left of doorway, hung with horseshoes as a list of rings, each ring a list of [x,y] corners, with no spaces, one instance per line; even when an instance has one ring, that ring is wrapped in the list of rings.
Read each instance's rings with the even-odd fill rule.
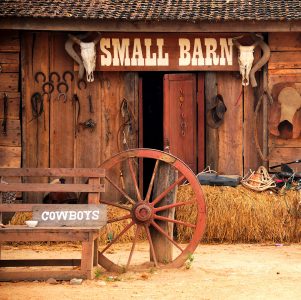
[[[138,124],[127,136],[127,145],[121,140],[120,128],[125,120],[121,104],[126,99],[138,121],[138,74],[129,72],[95,72],[95,80],[87,88],[78,88],[77,72],[71,82],[67,101],[58,100],[57,82],[50,100],[44,98],[44,112],[33,119],[31,96],[41,92],[42,84],[34,81],[36,72],[48,76],[58,72],[74,71],[75,63],[65,51],[67,33],[26,32],[22,38],[23,66],[23,166],[24,167],[98,167],[105,159],[127,147],[138,146]],[[43,47],[41,47],[43,45]],[[77,110],[72,98],[80,101],[78,122],[88,119],[96,122],[94,131],[76,127]],[[94,112],[89,111],[88,96],[92,96]]]

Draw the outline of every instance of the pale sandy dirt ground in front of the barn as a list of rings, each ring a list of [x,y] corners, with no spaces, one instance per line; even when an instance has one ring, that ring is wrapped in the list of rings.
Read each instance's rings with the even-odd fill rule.
[[[122,245],[116,253],[123,255]],[[76,246],[4,247],[5,258],[79,257]],[[136,258],[146,258],[146,244]],[[0,283],[0,299],[301,299],[301,244],[200,245],[190,268],[99,272],[81,285]]]

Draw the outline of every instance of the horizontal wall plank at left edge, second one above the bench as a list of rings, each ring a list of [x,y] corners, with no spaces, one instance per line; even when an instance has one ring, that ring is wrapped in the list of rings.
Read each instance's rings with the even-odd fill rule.
[[[3,119],[0,119],[2,124]],[[19,120],[7,120],[6,135],[0,131],[0,146],[18,147],[21,146],[21,124]]]

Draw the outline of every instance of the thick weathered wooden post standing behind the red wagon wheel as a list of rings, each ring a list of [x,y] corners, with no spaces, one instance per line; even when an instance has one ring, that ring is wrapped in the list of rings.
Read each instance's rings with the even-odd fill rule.
[[[158,167],[158,175],[154,183],[153,199],[160,195],[166,188],[168,188],[177,179],[177,172],[168,164],[161,163]],[[159,205],[172,204],[176,200],[176,188],[172,190],[166,197],[164,197]],[[158,205],[158,206],[159,206]],[[158,213],[159,214],[159,213]],[[160,215],[173,219],[175,209],[164,210]],[[156,223],[172,238],[173,237],[173,223],[156,220]],[[151,238],[154,245],[157,261],[159,263],[169,263],[172,261],[172,243],[167,240],[160,232],[154,228],[150,228]],[[151,255],[151,261],[153,260]]]

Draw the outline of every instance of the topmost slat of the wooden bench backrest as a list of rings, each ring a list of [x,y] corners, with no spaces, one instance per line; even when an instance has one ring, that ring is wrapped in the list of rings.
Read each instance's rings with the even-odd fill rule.
[[[101,168],[1,168],[0,176],[104,177]]]

